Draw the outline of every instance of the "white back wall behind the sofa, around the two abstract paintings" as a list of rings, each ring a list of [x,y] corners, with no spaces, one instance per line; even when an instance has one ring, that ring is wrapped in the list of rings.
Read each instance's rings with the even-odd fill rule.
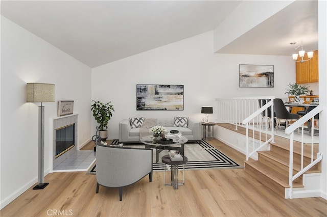
[[[218,54],[213,52],[213,38],[213,32],[207,32],[93,68],[92,99],[111,101],[115,109],[109,139],[118,139],[124,118],[188,116],[200,121],[201,106],[214,106],[217,97],[286,97],[287,84],[295,83],[291,57]],[[274,88],[239,88],[239,64],[274,65]],[[184,111],[136,111],[136,84],[184,85]],[[92,120],[94,133],[95,127]]]

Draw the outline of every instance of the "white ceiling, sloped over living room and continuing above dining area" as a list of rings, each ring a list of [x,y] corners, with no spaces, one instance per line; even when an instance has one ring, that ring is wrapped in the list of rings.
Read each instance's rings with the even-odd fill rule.
[[[1,1],[1,14],[90,67],[212,31],[242,1]],[[317,1],[296,1],[218,50],[318,48]]]

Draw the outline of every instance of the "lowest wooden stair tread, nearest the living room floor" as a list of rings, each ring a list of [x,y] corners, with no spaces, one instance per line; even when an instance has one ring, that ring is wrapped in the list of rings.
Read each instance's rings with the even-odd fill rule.
[[[250,167],[254,168],[256,171],[262,173],[269,179],[273,180],[274,182],[278,183],[283,187],[290,187],[288,184],[288,176],[285,176],[277,171],[272,170],[271,168],[267,167],[265,164],[262,164],[260,161],[245,161],[245,165],[249,165]],[[245,166],[246,169],[246,166]],[[302,183],[299,183],[297,180],[293,182],[293,187],[303,187]]]

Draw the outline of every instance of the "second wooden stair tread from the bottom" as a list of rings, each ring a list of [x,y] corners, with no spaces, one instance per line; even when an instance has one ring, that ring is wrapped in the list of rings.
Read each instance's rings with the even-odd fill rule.
[[[289,167],[289,155],[288,154],[281,154],[281,153],[276,153],[273,151],[258,151],[258,153],[279,162],[280,164]],[[306,166],[306,165],[305,165]],[[293,170],[295,171],[300,171],[301,170],[301,164],[300,162],[293,162]],[[311,168],[309,171],[307,171],[306,173],[320,173],[320,170],[317,170],[315,168]]]

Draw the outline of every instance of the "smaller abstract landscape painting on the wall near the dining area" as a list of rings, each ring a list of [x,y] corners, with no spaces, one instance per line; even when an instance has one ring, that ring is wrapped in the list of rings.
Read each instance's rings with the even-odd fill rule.
[[[274,66],[240,64],[240,87],[273,88]]]

